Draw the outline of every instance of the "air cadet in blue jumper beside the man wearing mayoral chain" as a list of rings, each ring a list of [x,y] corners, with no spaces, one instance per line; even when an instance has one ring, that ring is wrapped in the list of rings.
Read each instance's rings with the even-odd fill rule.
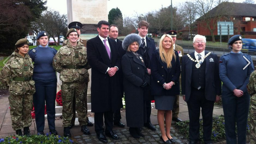
[[[242,36],[228,40],[232,51],[220,57],[219,72],[222,85],[222,105],[227,144],[246,144],[246,126],[250,95],[246,85],[254,67],[252,58],[242,53]],[[236,137],[237,126],[237,137]]]

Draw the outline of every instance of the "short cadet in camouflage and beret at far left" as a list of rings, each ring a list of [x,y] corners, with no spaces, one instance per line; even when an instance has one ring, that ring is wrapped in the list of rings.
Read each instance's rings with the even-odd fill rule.
[[[28,53],[28,40],[22,38],[15,44],[16,50],[10,60],[0,71],[0,80],[4,86],[9,87],[10,114],[12,128],[16,134],[29,136],[32,117],[32,99],[35,93],[35,82],[32,80],[33,64]]]

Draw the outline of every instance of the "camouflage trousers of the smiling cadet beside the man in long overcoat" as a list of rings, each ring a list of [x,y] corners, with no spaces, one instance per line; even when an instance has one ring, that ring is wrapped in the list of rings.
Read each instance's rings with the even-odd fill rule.
[[[86,83],[69,83],[63,82],[61,85],[62,91],[62,116],[63,116],[63,127],[68,127],[71,124],[73,117],[73,100],[76,101],[76,112],[78,114],[78,122],[80,126],[86,125]],[[75,98],[75,99],[74,99]]]

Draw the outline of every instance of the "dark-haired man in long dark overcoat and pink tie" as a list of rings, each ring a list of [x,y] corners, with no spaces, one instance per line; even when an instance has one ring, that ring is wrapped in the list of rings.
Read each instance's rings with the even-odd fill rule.
[[[104,135],[103,116],[105,120],[105,134],[112,139],[119,139],[114,134],[113,112],[122,107],[120,97],[120,83],[116,72],[120,68],[120,57],[117,44],[108,38],[110,24],[102,20],[98,22],[98,36],[87,42],[87,58],[92,66],[92,112],[94,112],[94,126],[98,139],[107,143]]]

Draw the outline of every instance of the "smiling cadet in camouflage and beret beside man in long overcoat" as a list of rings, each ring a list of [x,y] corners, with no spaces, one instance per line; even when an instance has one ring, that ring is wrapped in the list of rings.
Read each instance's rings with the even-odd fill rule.
[[[60,73],[62,80],[62,101],[63,101],[63,127],[64,136],[70,137],[70,124],[73,117],[73,100],[76,100],[76,112],[81,131],[84,134],[90,134],[86,127],[86,80],[88,79],[88,69],[90,65],[87,62],[86,48],[78,40],[76,29],[68,30],[66,37],[69,43],[60,48],[53,59],[53,68]]]

